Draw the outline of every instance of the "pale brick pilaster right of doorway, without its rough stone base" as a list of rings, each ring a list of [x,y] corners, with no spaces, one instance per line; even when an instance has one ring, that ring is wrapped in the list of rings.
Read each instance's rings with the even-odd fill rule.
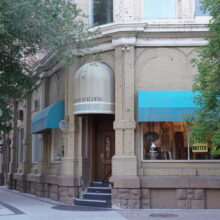
[[[132,40],[131,40],[131,39]],[[134,36],[128,42],[135,41]],[[126,39],[115,39],[115,156],[112,176],[136,176],[137,160],[134,146],[134,46]],[[122,45],[120,45],[122,43]],[[119,45],[117,45],[119,44]]]

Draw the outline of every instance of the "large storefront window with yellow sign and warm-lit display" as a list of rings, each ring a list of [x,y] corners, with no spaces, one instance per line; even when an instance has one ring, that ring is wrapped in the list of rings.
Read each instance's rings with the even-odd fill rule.
[[[189,143],[184,122],[142,123],[144,160],[213,160],[207,143]]]

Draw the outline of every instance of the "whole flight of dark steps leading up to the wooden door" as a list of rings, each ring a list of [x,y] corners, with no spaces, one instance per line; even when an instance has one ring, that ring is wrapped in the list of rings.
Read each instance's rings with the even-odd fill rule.
[[[80,206],[111,207],[111,188],[108,182],[92,182],[82,198],[75,198],[74,204]]]

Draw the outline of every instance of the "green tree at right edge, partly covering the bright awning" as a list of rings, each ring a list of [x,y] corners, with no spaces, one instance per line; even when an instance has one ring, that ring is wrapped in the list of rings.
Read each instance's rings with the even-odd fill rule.
[[[213,155],[220,155],[220,1],[202,0],[204,10],[212,19],[209,24],[208,45],[199,50],[194,60],[198,67],[194,91],[200,109],[193,115],[192,141],[208,141]]]

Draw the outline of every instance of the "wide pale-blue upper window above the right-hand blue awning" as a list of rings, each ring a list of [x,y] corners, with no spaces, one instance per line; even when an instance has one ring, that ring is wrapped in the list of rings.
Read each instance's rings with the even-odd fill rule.
[[[144,0],[144,18],[176,18],[176,0]]]

